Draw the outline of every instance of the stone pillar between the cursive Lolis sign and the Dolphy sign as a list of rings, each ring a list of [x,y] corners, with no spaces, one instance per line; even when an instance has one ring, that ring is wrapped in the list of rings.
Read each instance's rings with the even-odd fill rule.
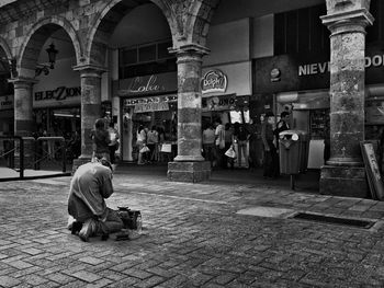
[[[178,56],[178,155],[168,163],[171,181],[201,182],[211,176],[211,163],[202,157],[202,57],[207,49],[184,45]]]

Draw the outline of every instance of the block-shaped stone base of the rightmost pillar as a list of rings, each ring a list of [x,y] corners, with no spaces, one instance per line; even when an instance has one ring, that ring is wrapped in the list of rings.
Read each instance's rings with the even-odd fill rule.
[[[370,195],[363,166],[321,166],[320,194],[368,198]]]

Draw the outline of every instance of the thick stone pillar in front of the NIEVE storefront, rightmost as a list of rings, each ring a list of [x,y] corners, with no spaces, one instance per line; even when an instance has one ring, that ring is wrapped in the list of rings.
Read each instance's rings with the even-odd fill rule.
[[[364,140],[365,0],[328,0],[323,23],[330,35],[330,159],[321,168],[320,193],[366,197],[360,141]],[[368,7],[365,7],[368,4]]]

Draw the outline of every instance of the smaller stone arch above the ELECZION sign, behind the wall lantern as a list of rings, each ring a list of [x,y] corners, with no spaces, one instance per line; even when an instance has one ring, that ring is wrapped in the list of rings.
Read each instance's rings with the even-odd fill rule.
[[[47,35],[50,35],[60,28],[63,28],[72,41],[76,60],[78,64],[81,62],[83,59],[83,48],[72,24],[63,16],[47,16],[39,20],[27,32],[24,42],[19,49],[18,68],[34,70],[39,49],[47,39]]]

